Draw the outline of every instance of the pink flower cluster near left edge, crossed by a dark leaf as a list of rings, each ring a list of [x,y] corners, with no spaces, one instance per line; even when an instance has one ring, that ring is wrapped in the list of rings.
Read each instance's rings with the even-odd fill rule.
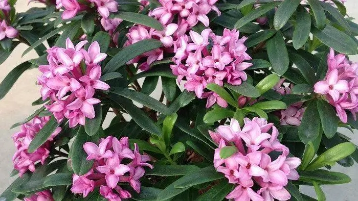
[[[42,129],[42,127],[49,121],[50,117],[35,117],[32,121],[21,125],[19,132],[12,136],[15,142],[16,152],[12,157],[14,168],[19,170],[20,176],[27,170],[35,171],[35,163],[41,162],[43,164],[50,154],[50,148],[54,137],[60,132],[61,128],[57,127],[51,134],[49,139],[38,147],[33,153],[28,152],[29,145],[36,136],[36,134]]]

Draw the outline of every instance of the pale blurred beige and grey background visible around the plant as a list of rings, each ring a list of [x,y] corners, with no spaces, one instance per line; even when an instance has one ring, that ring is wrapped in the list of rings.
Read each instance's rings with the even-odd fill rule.
[[[358,22],[358,1],[348,0],[345,3],[349,17],[356,18]],[[28,0],[18,0],[15,8],[17,12],[25,12],[29,7],[39,7],[39,3],[31,3]],[[12,52],[10,57],[0,65],[0,82],[15,66],[30,59],[37,57],[34,51],[28,53],[21,58],[21,54],[25,51],[27,45],[21,43]],[[350,60],[358,62],[358,56],[351,56]],[[39,86],[35,84],[39,75],[37,69],[27,70],[14,84],[9,93],[0,101],[0,193],[2,193],[9,184],[16,178],[10,178],[10,172],[13,169],[12,156],[15,147],[11,136],[17,132],[19,128],[10,130],[12,124],[19,122],[40,108],[39,106],[31,106],[31,103],[40,97]],[[154,94],[156,95],[156,94]],[[342,130],[344,134],[351,137],[352,142],[358,144],[358,132],[352,135],[348,130]],[[352,182],[348,184],[323,186],[327,200],[358,200],[358,165],[355,163],[352,167],[342,167],[336,164],[332,171],[340,171],[348,174]],[[311,197],[316,197],[313,187],[302,187],[304,192]]]

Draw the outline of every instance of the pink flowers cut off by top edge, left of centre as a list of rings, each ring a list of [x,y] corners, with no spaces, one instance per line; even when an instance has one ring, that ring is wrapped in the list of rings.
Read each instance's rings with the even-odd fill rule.
[[[97,7],[98,13],[108,18],[110,12],[118,11],[118,3],[114,0],[87,0],[88,3],[93,3]],[[56,0],[56,8],[63,8],[62,19],[70,19],[82,10],[86,9],[86,5],[82,5],[77,0]]]

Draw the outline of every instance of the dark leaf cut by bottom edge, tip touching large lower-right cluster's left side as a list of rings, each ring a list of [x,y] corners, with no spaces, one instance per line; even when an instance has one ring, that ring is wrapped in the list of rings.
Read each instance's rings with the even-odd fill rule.
[[[233,184],[229,184],[227,180],[222,180],[220,183],[213,186],[210,190],[200,195],[196,201],[221,201],[230,193]]]

